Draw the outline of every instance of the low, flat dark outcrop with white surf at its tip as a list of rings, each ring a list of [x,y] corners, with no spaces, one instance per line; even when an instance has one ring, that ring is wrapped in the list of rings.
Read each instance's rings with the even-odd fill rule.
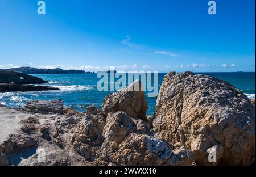
[[[1,83],[0,92],[11,92],[11,91],[48,91],[48,90],[60,90],[59,88],[49,86],[34,86],[34,85],[19,85],[16,83]]]

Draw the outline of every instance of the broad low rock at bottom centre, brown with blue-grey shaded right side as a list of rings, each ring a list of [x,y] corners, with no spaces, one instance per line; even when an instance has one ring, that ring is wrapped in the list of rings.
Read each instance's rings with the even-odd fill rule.
[[[171,155],[167,142],[146,134],[131,133],[111,158],[117,165],[163,165]]]

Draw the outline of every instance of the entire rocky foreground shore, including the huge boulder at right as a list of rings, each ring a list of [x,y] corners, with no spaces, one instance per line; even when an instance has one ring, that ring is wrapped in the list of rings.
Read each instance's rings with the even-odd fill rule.
[[[137,81],[138,82],[138,81]],[[133,83],[129,87],[133,87]],[[128,88],[86,113],[61,100],[0,106],[0,165],[251,165],[255,106],[242,91],[207,75],[168,73],[154,117],[144,91]],[[11,115],[11,117],[10,117]],[[43,151],[43,157],[41,157]],[[209,162],[216,152],[216,162]]]

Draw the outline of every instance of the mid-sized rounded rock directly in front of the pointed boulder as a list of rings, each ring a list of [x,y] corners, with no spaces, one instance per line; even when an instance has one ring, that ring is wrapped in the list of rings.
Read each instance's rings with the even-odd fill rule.
[[[117,113],[110,112],[106,119],[106,126],[103,134],[106,141],[117,141],[121,143],[125,140],[127,134],[137,130],[131,117],[125,112],[118,111]]]

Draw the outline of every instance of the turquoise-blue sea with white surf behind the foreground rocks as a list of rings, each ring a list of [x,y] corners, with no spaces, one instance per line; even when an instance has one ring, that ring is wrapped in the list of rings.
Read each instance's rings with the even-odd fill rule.
[[[163,81],[166,73],[159,73],[158,87]],[[255,98],[255,73],[200,73],[213,77],[224,79],[238,89],[245,92],[249,98]],[[77,111],[85,112],[90,105],[101,107],[104,97],[109,95],[110,91],[98,91],[96,74],[36,74],[46,81],[46,85],[59,87],[59,91],[41,91],[41,92],[9,92],[0,94],[0,103],[8,107],[23,107],[28,100],[34,99],[57,99],[64,101],[65,107],[71,107]],[[146,91],[147,93],[147,91]],[[148,115],[154,114],[156,97],[148,98]]]

